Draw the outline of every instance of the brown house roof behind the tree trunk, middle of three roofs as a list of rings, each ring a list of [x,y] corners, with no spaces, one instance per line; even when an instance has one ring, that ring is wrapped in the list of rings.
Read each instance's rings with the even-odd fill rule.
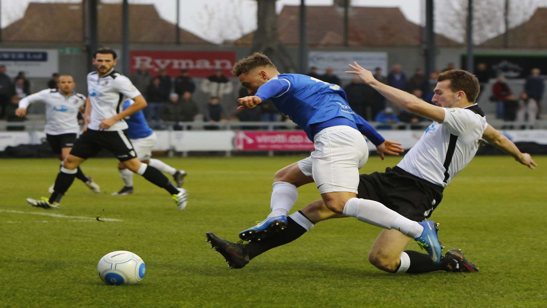
[[[299,43],[299,12],[297,5],[285,5],[278,15],[277,27],[284,44]],[[422,27],[406,20],[397,7],[351,7],[348,43],[359,47],[420,45]],[[254,32],[234,43],[251,45]],[[332,47],[344,43],[344,9],[336,6],[306,7],[306,43],[310,47]],[[435,35],[435,44],[459,47],[461,43],[443,35]]]

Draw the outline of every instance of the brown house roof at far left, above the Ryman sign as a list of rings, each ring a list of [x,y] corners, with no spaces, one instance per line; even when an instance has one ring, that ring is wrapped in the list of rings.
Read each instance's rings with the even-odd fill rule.
[[[121,42],[121,4],[97,6],[98,40]],[[2,30],[4,42],[83,42],[82,5],[78,3],[30,3],[22,19]],[[129,41],[173,43],[175,25],[161,19],[153,4],[129,5]],[[182,44],[212,43],[181,28]]]

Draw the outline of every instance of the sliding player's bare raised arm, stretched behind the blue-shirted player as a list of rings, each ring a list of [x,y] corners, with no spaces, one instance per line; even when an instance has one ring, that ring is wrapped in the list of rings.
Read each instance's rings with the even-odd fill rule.
[[[382,94],[389,101],[392,101],[399,108],[435,122],[443,123],[445,117],[443,108],[428,104],[408,92],[389,87],[389,85],[377,81],[371,71],[363,69],[357,62],[353,62],[353,65],[350,64],[350,67],[354,71],[346,71],[346,73],[359,76],[365,84],[373,87],[378,93]]]

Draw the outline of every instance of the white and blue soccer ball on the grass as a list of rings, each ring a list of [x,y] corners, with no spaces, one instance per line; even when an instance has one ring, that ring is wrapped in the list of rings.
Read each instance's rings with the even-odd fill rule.
[[[138,255],[118,250],[104,255],[97,264],[99,277],[106,284],[137,284],[146,272],[144,261]]]

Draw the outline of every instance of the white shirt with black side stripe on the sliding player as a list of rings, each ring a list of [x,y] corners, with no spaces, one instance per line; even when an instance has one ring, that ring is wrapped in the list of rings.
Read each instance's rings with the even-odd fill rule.
[[[477,104],[444,110],[443,123],[433,122],[397,166],[446,187],[473,159],[488,124]]]

